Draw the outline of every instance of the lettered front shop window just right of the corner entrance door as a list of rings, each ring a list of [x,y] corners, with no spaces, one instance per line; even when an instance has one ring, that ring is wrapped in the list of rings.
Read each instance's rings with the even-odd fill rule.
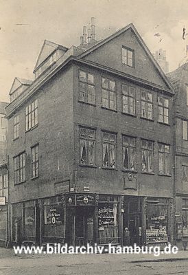
[[[119,243],[117,203],[99,203],[98,243]]]

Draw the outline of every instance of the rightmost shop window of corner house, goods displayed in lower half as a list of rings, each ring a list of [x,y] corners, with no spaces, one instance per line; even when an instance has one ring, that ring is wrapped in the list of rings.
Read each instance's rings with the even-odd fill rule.
[[[156,202],[154,202],[156,200]],[[146,209],[146,241],[158,243],[168,241],[167,203],[148,199]]]

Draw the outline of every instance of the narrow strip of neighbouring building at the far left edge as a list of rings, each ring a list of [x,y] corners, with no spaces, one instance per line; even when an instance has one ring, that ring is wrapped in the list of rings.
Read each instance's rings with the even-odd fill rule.
[[[8,166],[7,166],[7,119],[5,107],[7,102],[0,102],[0,246],[6,245],[7,232],[7,203],[8,203]]]

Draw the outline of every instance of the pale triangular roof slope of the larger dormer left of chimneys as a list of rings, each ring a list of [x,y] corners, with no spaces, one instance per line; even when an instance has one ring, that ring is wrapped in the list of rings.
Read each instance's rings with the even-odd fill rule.
[[[38,54],[34,71],[41,63],[43,63],[43,61],[45,61],[45,59],[47,58],[47,56],[49,56],[49,54],[51,54],[52,52],[54,52],[54,50],[57,50],[57,49],[63,50],[64,52],[67,52],[67,50],[69,50],[67,47],[45,40],[40,50],[40,53]]]

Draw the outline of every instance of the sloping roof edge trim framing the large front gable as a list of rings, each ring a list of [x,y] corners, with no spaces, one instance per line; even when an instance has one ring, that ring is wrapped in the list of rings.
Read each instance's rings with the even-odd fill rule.
[[[134,27],[133,23],[130,23],[129,25],[127,25],[126,27],[122,28],[121,30],[118,30],[117,32],[115,32],[114,34],[111,34],[110,36],[108,36],[106,39],[103,39],[101,41],[99,41],[98,43],[95,43],[94,45],[91,45],[91,47],[87,48],[86,50],[84,50],[84,52],[82,52],[82,54],[79,55],[80,58],[87,56],[88,54],[90,54],[91,52],[97,50],[99,47],[103,46],[104,44],[108,43],[109,41],[115,39],[117,36],[123,34],[124,32],[126,32],[127,30],[131,29],[132,32],[134,32],[135,36],[137,37],[140,45],[143,47],[143,50],[145,50],[146,54],[148,55],[148,57],[150,58],[150,60],[152,61],[152,63],[154,64],[154,66],[156,67],[156,69],[158,70],[159,74],[161,75],[161,77],[163,78],[163,80],[165,81],[165,83],[167,84],[167,86],[169,87],[169,89],[172,90],[173,93],[173,87],[171,85],[171,83],[169,82],[169,80],[167,79],[167,76],[165,76],[165,73],[163,72],[163,70],[161,69],[161,67],[158,65],[158,63],[156,62],[154,56],[152,55],[152,53],[150,52],[150,50],[148,49],[147,45],[145,45],[145,42],[143,41],[143,39],[141,38],[139,32],[137,32],[137,29]]]

